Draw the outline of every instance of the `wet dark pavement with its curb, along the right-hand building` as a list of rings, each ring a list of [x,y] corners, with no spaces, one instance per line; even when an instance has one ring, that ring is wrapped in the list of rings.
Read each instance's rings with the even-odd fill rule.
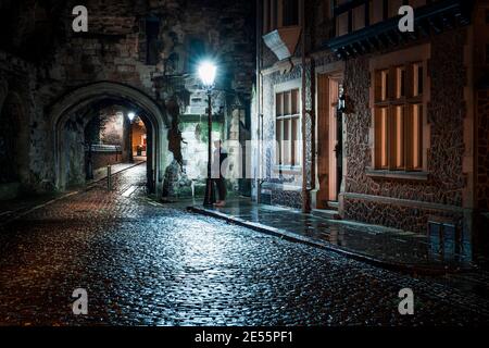
[[[419,274],[475,271],[472,246],[454,240],[233,198],[224,208],[188,201],[188,210],[321,248],[386,269]]]

